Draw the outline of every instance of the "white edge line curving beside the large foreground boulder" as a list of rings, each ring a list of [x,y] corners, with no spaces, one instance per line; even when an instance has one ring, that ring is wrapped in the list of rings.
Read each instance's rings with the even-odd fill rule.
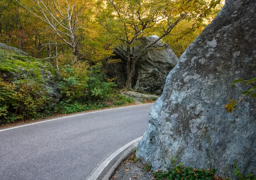
[[[111,154],[111,156],[108,157],[101,165],[99,165],[99,167],[93,172],[93,174],[89,178],[87,178],[87,180],[96,180],[99,177],[99,175],[101,174],[101,172],[103,171],[103,169],[105,169],[105,167],[108,166],[108,164],[111,162],[111,160],[113,160],[119,153],[121,153],[123,150],[125,150],[126,148],[131,146],[133,143],[136,143],[137,141],[141,140],[142,137],[139,137],[139,138],[131,141],[130,143],[125,144],[125,146],[122,146],[122,148],[118,149],[116,152]]]

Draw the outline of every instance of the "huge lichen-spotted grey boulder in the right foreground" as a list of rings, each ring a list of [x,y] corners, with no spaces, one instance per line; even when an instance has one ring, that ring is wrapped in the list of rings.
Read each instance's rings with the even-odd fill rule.
[[[249,89],[229,85],[256,77],[255,13],[255,0],[226,0],[166,77],[137,149],[153,170],[172,167],[173,156],[184,166],[215,167],[222,177],[238,179],[234,160],[241,174],[256,173],[256,98],[225,109]]]

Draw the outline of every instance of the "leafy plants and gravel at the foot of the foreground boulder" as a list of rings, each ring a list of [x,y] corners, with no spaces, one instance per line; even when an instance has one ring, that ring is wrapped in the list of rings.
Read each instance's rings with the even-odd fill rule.
[[[189,166],[184,166],[183,163],[177,163],[175,157],[171,157],[171,167],[166,171],[152,171],[150,164],[143,163],[141,158],[136,158],[136,151],[128,157],[124,164],[122,164],[113,175],[111,180],[118,179],[119,177],[125,177],[126,179],[140,179],[140,177],[150,177],[152,180],[231,180],[229,177],[219,177],[215,168],[212,169],[196,169]],[[140,169],[140,170],[139,170]],[[137,174],[137,173],[140,174]],[[233,174],[236,175],[239,180],[256,180],[254,174],[241,175],[238,164],[233,163]]]

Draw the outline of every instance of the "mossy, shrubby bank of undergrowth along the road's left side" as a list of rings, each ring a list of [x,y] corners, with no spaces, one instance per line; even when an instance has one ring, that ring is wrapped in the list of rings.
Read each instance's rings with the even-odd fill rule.
[[[0,124],[133,103],[103,78],[100,64],[67,58],[60,57],[57,73],[49,62],[0,49]]]

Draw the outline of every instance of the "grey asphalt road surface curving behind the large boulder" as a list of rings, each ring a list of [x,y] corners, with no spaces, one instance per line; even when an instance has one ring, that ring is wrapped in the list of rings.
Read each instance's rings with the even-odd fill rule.
[[[0,131],[0,180],[85,180],[113,152],[143,136],[151,106]]]

